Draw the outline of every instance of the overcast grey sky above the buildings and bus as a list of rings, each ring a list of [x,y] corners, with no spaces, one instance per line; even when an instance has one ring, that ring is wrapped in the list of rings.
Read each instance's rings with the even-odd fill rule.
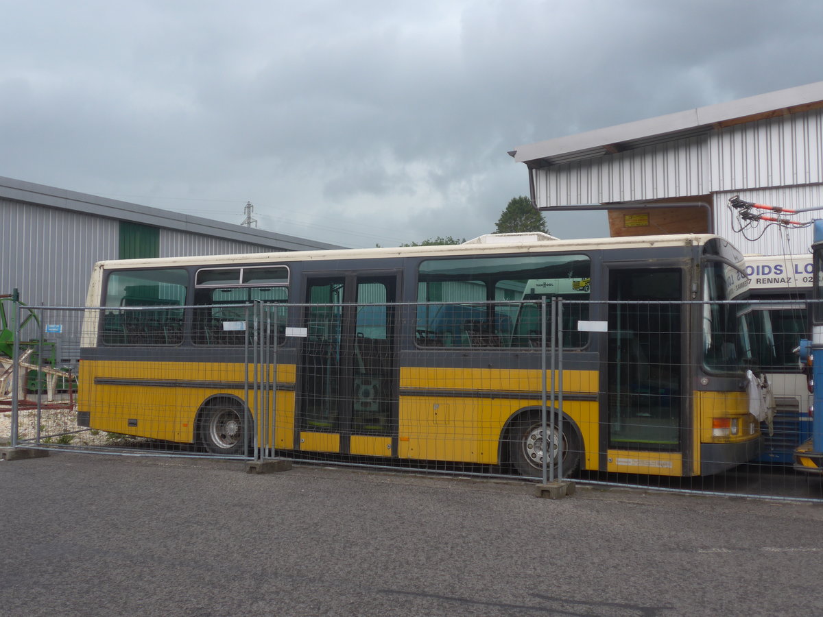
[[[823,81],[817,0],[0,6],[0,175],[352,247],[493,231],[516,146]]]

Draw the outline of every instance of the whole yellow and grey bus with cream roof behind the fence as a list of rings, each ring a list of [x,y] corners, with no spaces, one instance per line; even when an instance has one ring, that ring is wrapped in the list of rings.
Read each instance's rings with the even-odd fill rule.
[[[743,267],[710,234],[99,262],[78,423],[235,456],[267,426],[298,456],[539,476],[547,443],[566,475],[713,474],[760,448],[745,311],[729,302],[745,299]],[[556,368],[542,335],[555,298]],[[254,302],[277,321],[264,401],[244,392]],[[544,439],[547,373],[562,422]]]

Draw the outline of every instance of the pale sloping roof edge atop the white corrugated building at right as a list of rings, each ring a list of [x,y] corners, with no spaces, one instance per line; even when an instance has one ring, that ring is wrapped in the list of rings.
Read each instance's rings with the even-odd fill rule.
[[[714,123],[735,118],[745,118],[754,114],[763,114],[777,109],[819,101],[823,101],[823,81],[816,81],[805,86],[796,86],[785,90],[775,90],[763,95],[749,96],[745,99],[688,109],[675,114],[658,116],[657,118],[646,118],[575,135],[525,144],[515,148],[514,160],[518,163],[524,163],[549,156],[606,146],[619,141],[629,141],[664,135],[667,132],[710,126]]]

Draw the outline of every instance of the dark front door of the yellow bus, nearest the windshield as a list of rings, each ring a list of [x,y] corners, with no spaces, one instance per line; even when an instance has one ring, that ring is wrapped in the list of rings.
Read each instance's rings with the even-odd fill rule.
[[[682,277],[680,268],[609,271],[607,471],[680,476],[691,465]]]

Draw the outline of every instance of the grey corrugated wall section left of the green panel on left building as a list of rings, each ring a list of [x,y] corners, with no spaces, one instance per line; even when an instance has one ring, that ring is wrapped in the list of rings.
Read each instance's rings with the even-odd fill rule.
[[[117,258],[118,222],[0,200],[0,293],[26,304],[82,306],[91,267]]]

